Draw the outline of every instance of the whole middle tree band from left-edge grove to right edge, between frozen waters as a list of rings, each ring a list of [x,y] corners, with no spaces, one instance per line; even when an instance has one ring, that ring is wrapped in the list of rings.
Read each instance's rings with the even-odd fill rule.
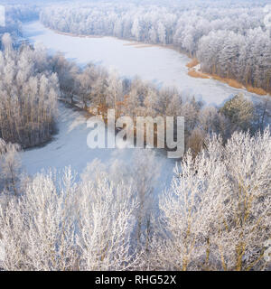
[[[158,89],[141,79],[121,79],[116,71],[89,63],[84,69],[61,54],[23,44],[14,49],[3,36],[1,61],[0,136],[24,148],[42,144],[55,131],[57,99],[106,117],[107,108],[119,116],[185,117],[186,147],[197,154],[211,133],[224,141],[236,130],[263,130],[270,117],[270,100],[257,104],[242,95],[224,107],[204,107],[173,88]]]

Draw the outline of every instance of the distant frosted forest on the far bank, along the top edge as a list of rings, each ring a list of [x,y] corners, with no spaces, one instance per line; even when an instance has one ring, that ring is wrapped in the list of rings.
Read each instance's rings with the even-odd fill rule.
[[[197,57],[205,72],[271,91],[271,31],[264,23],[266,4],[181,1],[172,5],[54,5],[42,9],[40,17],[46,26],[65,33],[173,44]]]

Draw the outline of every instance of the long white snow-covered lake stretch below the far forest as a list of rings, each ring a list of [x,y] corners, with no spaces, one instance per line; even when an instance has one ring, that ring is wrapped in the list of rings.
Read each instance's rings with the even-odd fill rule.
[[[121,76],[154,81],[159,86],[175,86],[194,95],[207,105],[221,105],[238,92],[257,97],[244,89],[234,89],[215,79],[194,79],[187,74],[185,64],[190,59],[171,49],[126,45],[131,42],[113,37],[73,37],[55,33],[40,22],[23,24],[23,35],[31,42],[42,43],[51,51],[61,51],[80,65],[89,61],[116,69]]]

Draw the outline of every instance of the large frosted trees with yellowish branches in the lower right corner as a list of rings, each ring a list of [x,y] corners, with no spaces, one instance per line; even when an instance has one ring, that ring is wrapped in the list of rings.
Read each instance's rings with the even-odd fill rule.
[[[216,136],[186,154],[160,201],[148,266],[164,270],[262,270],[270,239],[271,135]],[[164,230],[164,235],[162,231]]]

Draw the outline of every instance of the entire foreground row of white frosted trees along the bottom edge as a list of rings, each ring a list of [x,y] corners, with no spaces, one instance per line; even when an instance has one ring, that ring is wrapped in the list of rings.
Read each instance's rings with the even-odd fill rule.
[[[8,164],[15,152],[0,142],[1,178],[18,168]],[[152,204],[160,168],[149,153],[136,153],[129,167],[96,160],[80,182],[69,168],[61,182],[53,171],[9,175],[6,190],[16,187],[17,196],[0,195],[0,269],[270,269],[269,129],[236,132],[226,145],[213,135],[196,158],[188,152],[159,198],[158,215]]]

